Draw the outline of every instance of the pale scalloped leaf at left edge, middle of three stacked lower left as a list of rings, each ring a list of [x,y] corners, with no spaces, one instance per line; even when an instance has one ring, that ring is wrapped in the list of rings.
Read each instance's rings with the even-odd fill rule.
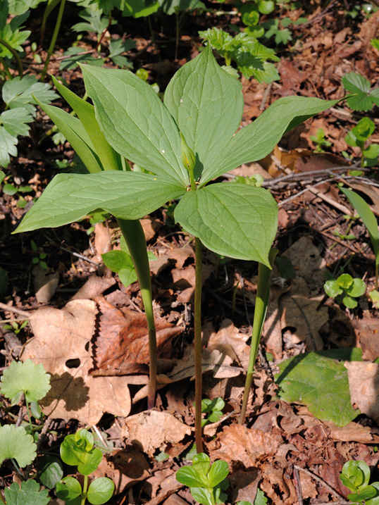
[[[18,428],[15,428],[14,425],[0,427],[0,465],[4,459],[13,458],[20,468],[25,468],[37,456],[36,451],[37,445],[32,435],[27,435],[22,426],[18,426]]]

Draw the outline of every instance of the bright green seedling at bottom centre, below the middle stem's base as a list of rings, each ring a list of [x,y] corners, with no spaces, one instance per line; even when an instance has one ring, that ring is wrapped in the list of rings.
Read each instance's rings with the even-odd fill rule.
[[[192,497],[202,505],[223,504],[224,493],[229,487],[226,479],[228,463],[218,460],[211,466],[209,456],[199,453],[192,459],[192,466],[183,466],[176,473],[180,484],[190,487]]]

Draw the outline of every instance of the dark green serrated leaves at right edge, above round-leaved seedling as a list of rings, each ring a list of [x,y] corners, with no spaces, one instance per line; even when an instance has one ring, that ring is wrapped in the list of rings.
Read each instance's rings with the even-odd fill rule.
[[[346,101],[353,111],[371,111],[374,105],[379,105],[379,87],[371,88],[370,81],[363,75],[349,72],[342,77],[342,85],[354,93]]]

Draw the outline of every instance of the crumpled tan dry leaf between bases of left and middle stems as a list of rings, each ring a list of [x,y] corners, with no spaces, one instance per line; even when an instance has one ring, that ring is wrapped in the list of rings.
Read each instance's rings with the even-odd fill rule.
[[[149,456],[164,444],[177,444],[192,433],[190,426],[166,412],[141,412],[125,419],[125,424],[123,436]]]

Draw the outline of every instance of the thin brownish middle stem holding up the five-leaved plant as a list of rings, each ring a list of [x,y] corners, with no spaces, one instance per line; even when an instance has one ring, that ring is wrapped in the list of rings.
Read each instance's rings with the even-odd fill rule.
[[[203,451],[201,432],[201,395],[203,370],[201,368],[201,270],[202,270],[201,240],[195,238],[195,288],[194,288],[194,436],[197,452]]]

